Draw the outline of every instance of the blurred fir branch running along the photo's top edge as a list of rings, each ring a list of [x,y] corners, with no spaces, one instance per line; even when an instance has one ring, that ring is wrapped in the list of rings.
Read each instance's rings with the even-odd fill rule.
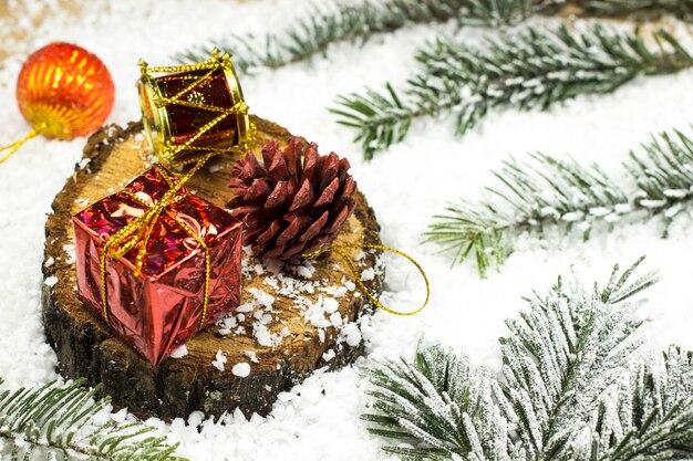
[[[280,69],[325,54],[340,42],[363,44],[380,33],[413,24],[455,21],[459,27],[504,28],[534,14],[556,14],[576,4],[587,15],[623,18],[641,12],[673,14],[693,21],[693,0],[363,0],[359,3],[316,2],[301,19],[280,32],[230,33],[177,53],[180,63],[200,62],[218,48],[235,54],[241,73]]]

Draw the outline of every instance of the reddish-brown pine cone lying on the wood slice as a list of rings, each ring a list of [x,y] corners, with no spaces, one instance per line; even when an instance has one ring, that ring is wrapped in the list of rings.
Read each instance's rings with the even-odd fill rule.
[[[356,184],[345,158],[318,154],[318,146],[292,138],[262,146],[234,165],[228,208],[245,220],[244,244],[258,255],[290,259],[327,247],[353,211]]]

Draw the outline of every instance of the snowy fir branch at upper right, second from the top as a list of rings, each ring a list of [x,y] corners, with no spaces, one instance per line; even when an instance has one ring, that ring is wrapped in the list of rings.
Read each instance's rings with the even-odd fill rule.
[[[693,56],[668,32],[653,33],[647,46],[637,33],[600,25],[585,32],[560,27],[527,29],[468,48],[438,39],[418,51],[421,71],[399,93],[338,97],[338,122],[356,130],[366,158],[406,136],[413,121],[444,113],[456,116],[464,135],[493,108],[547,109],[587,93],[609,93],[638,75],[674,73],[693,66]]]

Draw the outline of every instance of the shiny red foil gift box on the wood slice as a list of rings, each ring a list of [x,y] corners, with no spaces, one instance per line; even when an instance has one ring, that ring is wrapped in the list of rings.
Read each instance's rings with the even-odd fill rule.
[[[175,182],[157,165],[72,218],[80,296],[154,365],[194,336],[203,319],[210,324],[240,303],[242,224],[185,187],[151,221],[147,238],[118,259],[102,260],[108,240],[156,206]],[[144,255],[139,274],[138,254]]]

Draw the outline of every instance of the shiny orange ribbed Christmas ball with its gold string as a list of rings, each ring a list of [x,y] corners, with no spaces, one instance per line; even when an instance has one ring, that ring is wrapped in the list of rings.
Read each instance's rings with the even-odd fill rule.
[[[34,136],[86,136],[104,124],[115,96],[113,78],[101,60],[81,46],[51,43],[34,52],[17,78],[17,104],[32,126],[22,139],[0,148],[7,160]]]

